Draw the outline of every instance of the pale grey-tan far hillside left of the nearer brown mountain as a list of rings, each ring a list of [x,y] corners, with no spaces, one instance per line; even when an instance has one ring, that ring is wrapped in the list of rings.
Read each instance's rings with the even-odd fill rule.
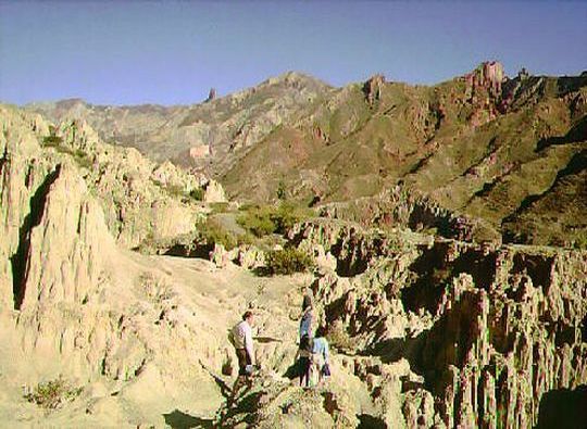
[[[27,108],[54,122],[85,119],[104,141],[137,148],[158,162],[171,160],[214,174],[229,168],[275,127],[295,124],[329,91],[317,79],[286,73],[193,105],[108,106],[73,99]]]

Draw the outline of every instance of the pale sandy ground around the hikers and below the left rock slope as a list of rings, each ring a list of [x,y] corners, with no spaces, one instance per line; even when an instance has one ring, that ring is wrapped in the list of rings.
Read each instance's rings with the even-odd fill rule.
[[[155,349],[173,348],[174,344],[159,341],[157,331],[147,328],[141,332],[151,336],[146,341],[154,344],[151,345],[154,357],[137,377],[112,380],[84,370],[71,377],[76,373],[67,370],[65,366],[68,361],[59,351],[23,352],[22,339],[13,328],[13,318],[4,317],[0,319],[0,427],[210,426],[216,409],[225,401],[224,387],[232,387],[234,381],[233,376],[222,374],[225,361],[235,358],[227,341],[227,329],[238,323],[240,315],[249,307],[257,314],[255,346],[263,370],[280,378],[291,365],[301,290],[311,281],[310,275],[257,277],[233,264],[218,268],[204,260],[143,256],[132,252],[121,252],[116,270],[113,288],[133,288],[132,285],[135,285],[135,301],[129,291],[118,290],[103,299],[102,306],[122,308],[124,313],[125,305],[128,305],[127,313],[133,313],[137,303],[152,299],[148,293],[141,296],[143,291],[137,289],[137,282],[149,276],[163,278],[168,289],[166,293],[176,303],[174,305],[178,306],[178,311],[190,312],[193,321],[201,324],[202,329],[216,339],[217,344],[212,344],[212,348],[220,350],[202,352],[202,348],[211,345],[202,343],[208,337],[191,335],[188,341],[192,340],[193,353],[199,354],[201,365],[193,369],[192,386],[186,387],[190,384],[189,374],[179,371],[186,367],[188,357],[193,356],[184,358],[182,353],[185,352],[182,352],[173,355],[174,361],[170,364],[165,359],[171,351],[163,350],[161,355],[167,357],[158,361],[160,351]],[[218,358],[218,355],[227,357]],[[177,369],[170,367],[175,365]],[[233,361],[232,366],[234,370],[236,362]],[[65,375],[75,386],[83,388],[73,402],[47,412],[23,398],[27,387],[58,375]]]

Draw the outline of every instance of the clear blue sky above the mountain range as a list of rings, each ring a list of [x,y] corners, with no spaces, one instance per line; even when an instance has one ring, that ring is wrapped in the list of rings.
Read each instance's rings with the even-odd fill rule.
[[[435,84],[587,70],[587,2],[0,0],[0,100],[187,104],[299,71]]]

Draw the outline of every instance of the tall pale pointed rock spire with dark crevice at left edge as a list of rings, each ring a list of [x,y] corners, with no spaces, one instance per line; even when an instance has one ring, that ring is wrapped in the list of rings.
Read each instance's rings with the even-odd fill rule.
[[[10,109],[0,113],[2,308],[82,303],[113,248],[101,210],[72,160],[42,155],[36,119]]]

